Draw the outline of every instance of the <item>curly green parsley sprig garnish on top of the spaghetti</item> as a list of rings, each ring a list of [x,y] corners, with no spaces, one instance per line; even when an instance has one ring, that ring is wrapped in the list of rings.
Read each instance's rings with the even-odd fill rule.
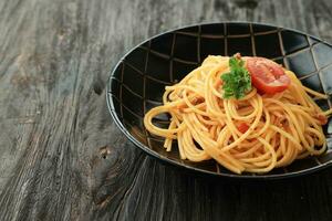
[[[229,59],[230,72],[221,75],[224,98],[243,97],[251,90],[251,78],[239,54]]]

